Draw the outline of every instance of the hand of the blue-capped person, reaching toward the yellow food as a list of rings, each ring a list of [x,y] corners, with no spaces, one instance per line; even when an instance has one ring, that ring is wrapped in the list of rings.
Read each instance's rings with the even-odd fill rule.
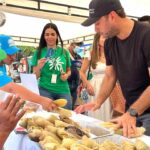
[[[40,104],[42,105],[43,109],[47,110],[47,111],[53,111],[55,109],[57,109],[57,105],[53,102],[53,100],[43,97],[43,99],[41,99]]]

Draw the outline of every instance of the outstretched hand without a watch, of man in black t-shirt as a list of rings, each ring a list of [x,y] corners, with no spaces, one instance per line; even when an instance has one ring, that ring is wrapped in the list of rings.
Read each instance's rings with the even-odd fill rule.
[[[74,111],[77,114],[80,114],[80,113],[92,110],[94,106],[95,106],[95,104],[93,102],[90,102],[90,103],[86,103],[86,104],[76,107],[76,109]]]

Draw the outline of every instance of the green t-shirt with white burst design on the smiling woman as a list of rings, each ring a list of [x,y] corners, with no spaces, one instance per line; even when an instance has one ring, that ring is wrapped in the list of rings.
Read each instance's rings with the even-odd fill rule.
[[[45,58],[47,52],[47,48],[43,48],[41,51],[40,59]],[[32,66],[36,66],[37,62],[37,51],[35,51],[32,58]],[[53,93],[70,93],[68,81],[62,81],[60,79],[61,73],[66,72],[66,69],[70,66],[71,62],[69,52],[67,50],[62,50],[61,47],[57,47],[54,50],[54,54],[51,56],[50,59],[47,60],[47,62],[41,69],[39,86]],[[53,74],[57,76],[56,83],[51,83],[51,78]]]

